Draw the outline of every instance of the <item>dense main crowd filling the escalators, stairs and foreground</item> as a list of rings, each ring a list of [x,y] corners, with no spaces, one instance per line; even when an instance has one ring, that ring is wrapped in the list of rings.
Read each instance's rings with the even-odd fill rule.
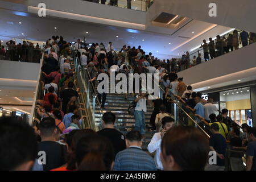
[[[73,52],[70,43],[60,36],[47,40],[42,67],[42,100],[37,100],[33,127],[18,122],[15,118],[0,119],[0,166],[5,170],[71,171],[71,170],[115,170],[115,171],[154,171],[154,170],[224,170],[228,143],[232,150],[246,151],[246,170],[256,169],[256,129],[240,127],[228,117],[228,110],[220,114],[211,98],[201,98],[200,92],[193,92],[183,78],[175,71],[162,67],[152,53],[146,53],[139,46],[123,46],[115,52],[112,43],[92,44],[90,48],[77,40],[74,45],[79,56],[81,69],[88,69],[91,82],[96,81],[97,73],[109,73],[110,69],[123,73],[159,73],[160,97],[154,98],[154,110],[150,125],[155,131],[147,150],[154,153],[154,159],[142,150],[146,134],[144,113],[147,112],[148,94],[141,89],[135,98],[135,128],[126,135],[115,129],[115,114],[105,112],[100,131],[82,129],[79,110],[84,104],[76,87],[76,74],[73,68]],[[128,85],[129,86],[129,85]],[[104,107],[106,95],[102,96]],[[125,95],[127,98],[127,94]],[[178,112],[174,119],[174,102],[179,100],[184,111],[191,116],[185,118]],[[192,114],[191,114],[192,113]],[[194,114],[193,114],[194,113]],[[41,119],[39,119],[41,118]],[[186,126],[175,126],[175,122]],[[195,127],[197,126],[197,127]],[[207,138],[199,127],[210,135]],[[12,143],[10,146],[9,143]],[[215,151],[217,163],[209,165],[209,151]],[[46,154],[46,155],[45,155]],[[234,154],[235,162],[242,158]]]

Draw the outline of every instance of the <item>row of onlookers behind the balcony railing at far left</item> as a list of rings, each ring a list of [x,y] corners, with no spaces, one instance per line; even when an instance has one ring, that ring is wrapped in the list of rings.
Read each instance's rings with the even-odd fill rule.
[[[6,42],[6,46],[0,43],[0,59],[2,60],[39,63],[42,57],[42,49],[32,42],[23,41],[23,43],[16,44],[15,41],[10,40]]]

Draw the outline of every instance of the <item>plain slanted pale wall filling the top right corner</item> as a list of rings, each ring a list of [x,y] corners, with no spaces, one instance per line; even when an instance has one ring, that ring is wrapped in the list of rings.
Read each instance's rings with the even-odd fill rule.
[[[216,3],[217,16],[209,16],[209,4]],[[226,27],[256,32],[255,0],[156,0],[155,12],[185,16]]]

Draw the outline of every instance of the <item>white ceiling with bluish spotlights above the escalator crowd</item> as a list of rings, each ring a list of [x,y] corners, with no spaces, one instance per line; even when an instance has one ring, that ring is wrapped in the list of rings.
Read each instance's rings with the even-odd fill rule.
[[[46,41],[52,35],[61,35],[69,42],[75,42],[78,38],[85,36],[88,43],[100,43],[105,45],[113,42],[114,48],[121,49],[126,46],[142,46],[146,53],[152,52],[160,59],[171,59],[179,57],[185,51],[199,46],[203,39],[215,37],[226,32],[231,28],[216,26],[212,30],[201,35],[201,32],[213,26],[213,24],[192,20],[174,35],[175,30],[170,30],[170,34],[158,34],[148,31],[134,31],[129,28],[113,27],[102,24],[92,24],[67,20],[61,18],[39,18],[35,14],[22,14],[17,11],[1,9],[0,11],[0,39],[9,40],[10,38]],[[22,24],[19,24],[22,22]],[[57,29],[55,29],[57,27]],[[192,34],[192,31],[195,32]],[[89,32],[86,34],[86,32]],[[24,35],[22,35],[24,34]],[[118,38],[116,36],[118,35]],[[200,36],[198,36],[200,35]],[[186,38],[180,38],[183,36]],[[197,38],[195,38],[198,36]],[[188,42],[189,38],[193,39]],[[144,39],[144,41],[142,41]],[[184,42],[188,42],[177,48]],[[169,44],[171,43],[171,44]],[[175,49],[176,48],[176,49]],[[174,51],[172,51],[175,49]],[[178,55],[179,53],[179,55]]]

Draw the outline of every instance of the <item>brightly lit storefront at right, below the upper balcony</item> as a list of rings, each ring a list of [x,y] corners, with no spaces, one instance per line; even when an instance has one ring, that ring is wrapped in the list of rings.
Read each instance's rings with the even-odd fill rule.
[[[224,90],[221,92],[204,93],[205,100],[213,98],[218,110],[228,109],[229,117],[239,125],[247,123],[253,126],[253,114],[251,109],[250,86]]]

